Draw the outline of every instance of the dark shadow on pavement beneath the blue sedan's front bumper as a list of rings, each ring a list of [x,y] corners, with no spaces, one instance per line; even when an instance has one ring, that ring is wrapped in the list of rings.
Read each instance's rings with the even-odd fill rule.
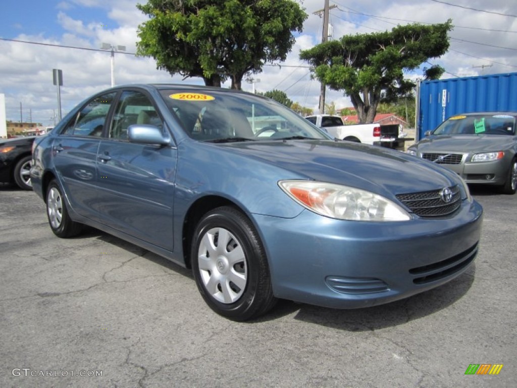
[[[438,288],[384,305],[359,309],[332,309],[279,301],[277,306],[260,321],[275,320],[296,312],[294,319],[332,327],[363,332],[383,329],[419,319],[443,310],[459,301],[474,282],[475,264],[458,278]]]

